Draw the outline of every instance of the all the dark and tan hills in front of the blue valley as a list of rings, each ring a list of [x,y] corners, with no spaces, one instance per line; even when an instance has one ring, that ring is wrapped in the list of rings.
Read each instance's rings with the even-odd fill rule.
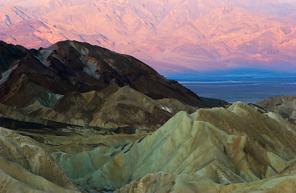
[[[295,192],[295,96],[200,98],[76,41],[0,49],[0,192]]]

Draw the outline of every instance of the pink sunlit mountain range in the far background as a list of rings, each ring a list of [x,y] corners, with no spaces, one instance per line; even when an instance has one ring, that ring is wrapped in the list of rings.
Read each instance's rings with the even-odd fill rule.
[[[296,3],[255,0],[0,1],[0,39],[26,48],[77,40],[166,75],[296,63]]]

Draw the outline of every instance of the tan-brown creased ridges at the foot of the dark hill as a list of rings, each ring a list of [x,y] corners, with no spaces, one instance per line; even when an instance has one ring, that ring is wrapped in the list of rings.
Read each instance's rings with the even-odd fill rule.
[[[19,110],[2,106],[6,107],[3,107],[3,114],[15,119],[38,123],[43,123],[41,120],[51,120],[83,127],[98,126],[128,134],[155,131],[180,110],[193,113],[198,109],[177,99],[154,100],[130,87],[120,88],[115,85],[102,91],[67,93],[53,103],[51,108],[39,102]]]

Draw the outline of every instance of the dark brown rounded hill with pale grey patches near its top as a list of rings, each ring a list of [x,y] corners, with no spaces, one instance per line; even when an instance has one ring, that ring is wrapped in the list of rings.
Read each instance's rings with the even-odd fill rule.
[[[129,86],[152,99],[174,98],[192,106],[211,107],[136,58],[99,46],[76,41],[57,42],[38,51],[6,46],[19,50],[18,54],[5,55],[6,78],[1,80],[0,101],[9,106],[26,107],[37,98],[48,106],[53,94],[101,91],[116,85]]]

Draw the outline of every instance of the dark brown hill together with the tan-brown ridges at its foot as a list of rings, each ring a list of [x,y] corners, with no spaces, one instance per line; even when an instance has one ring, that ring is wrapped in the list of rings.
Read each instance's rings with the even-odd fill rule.
[[[8,69],[0,88],[4,118],[131,134],[155,131],[180,110],[192,113],[227,103],[203,102],[141,61],[88,43],[64,41],[40,50],[2,44],[28,53],[18,60],[5,55]],[[5,119],[1,125],[15,129],[10,122]]]

